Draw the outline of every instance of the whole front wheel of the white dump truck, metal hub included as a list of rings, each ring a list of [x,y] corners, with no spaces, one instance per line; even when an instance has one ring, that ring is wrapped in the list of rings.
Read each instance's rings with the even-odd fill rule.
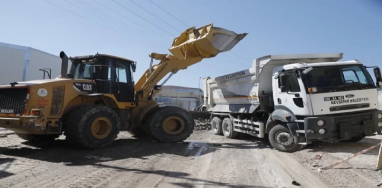
[[[269,131],[269,142],[278,151],[293,153],[305,147],[295,143],[288,128],[283,125],[276,125]]]

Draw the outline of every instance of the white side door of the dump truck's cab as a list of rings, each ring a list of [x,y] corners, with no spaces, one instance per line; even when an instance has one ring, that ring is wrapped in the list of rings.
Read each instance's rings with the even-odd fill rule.
[[[310,103],[307,100],[303,82],[296,74],[296,69],[286,70],[282,74],[287,74],[289,91],[282,92],[280,89],[280,79],[275,80],[274,89],[276,90],[277,100],[275,109],[281,108],[293,112],[295,115],[308,116],[310,114]]]

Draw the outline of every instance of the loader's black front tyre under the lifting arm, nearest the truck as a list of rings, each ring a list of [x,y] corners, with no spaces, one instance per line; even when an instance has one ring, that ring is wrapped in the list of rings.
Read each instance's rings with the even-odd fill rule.
[[[176,130],[165,130],[166,126],[164,124],[168,121],[176,124]],[[150,127],[154,140],[175,143],[186,140],[193,133],[195,122],[188,111],[175,106],[165,106],[155,109],[148,116],[147,125]]]

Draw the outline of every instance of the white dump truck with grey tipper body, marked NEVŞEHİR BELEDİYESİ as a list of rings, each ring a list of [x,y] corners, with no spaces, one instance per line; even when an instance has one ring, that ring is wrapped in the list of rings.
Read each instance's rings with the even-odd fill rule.
[[[381,131],[379,67],[343,53],[268,55],[252,67],[204,78],[212,131],[268,137],[275,149],[295,152],[313,140],[357,142]],[[374,68],[376,84],[367,68]]]

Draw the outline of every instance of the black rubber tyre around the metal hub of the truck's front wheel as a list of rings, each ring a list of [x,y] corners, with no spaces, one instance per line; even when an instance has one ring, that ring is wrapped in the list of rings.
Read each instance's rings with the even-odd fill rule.
[[[284,135],[289,135],[291,137],[292,140],[290,140],[290,137],[288,139],[288,141],[290,142],[288,146],[282,145],[281,143],[277,141],[277,137],[280,133],[283,133]],[[269,131],[268,138],[269,138],[270,145],[272,145],[272,147],[274,147],[278,151],[293,153],[305,148],[305,145],[300,145],[294,141],[293,136],[291,135],[289,129],[284,127],[283,125],[276,125],[272,127],[272,129],[270,129]],[[298,140],[298,137],[294,137],[294,138]]]

